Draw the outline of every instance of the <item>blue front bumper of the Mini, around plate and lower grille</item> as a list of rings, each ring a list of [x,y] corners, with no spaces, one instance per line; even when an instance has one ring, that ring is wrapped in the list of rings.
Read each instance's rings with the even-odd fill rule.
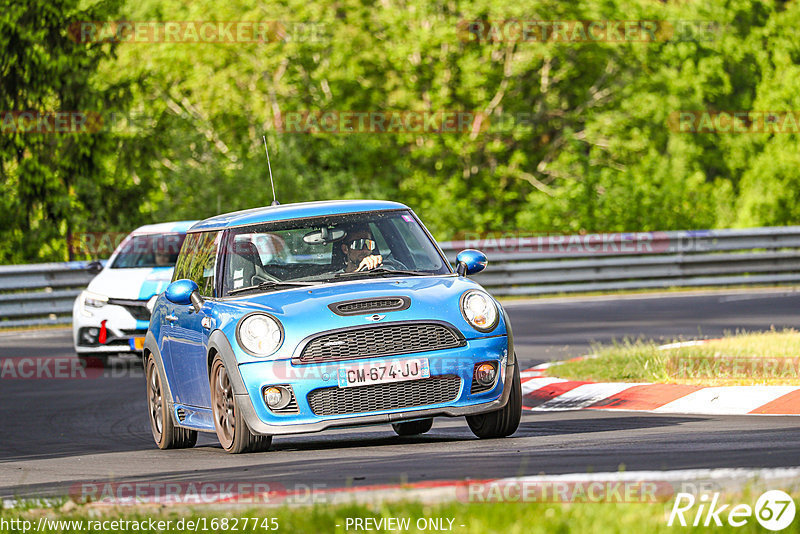
[[[508,402],[514,376],[513,351],[507,336],[468,340],[466,346],[448,350],[420,352],[396,358],[428,358],[431,376],[457,375],[461,386],[454,400],[425,406],[405,407],[347,415],[319,416],[313,413],[308,394],[320,388],[336,386],[335,368],[352,361],[327,364],[292,365],[290,360],[264,361],[239,365],[245,392],[236,391],[238,405],[247,425],[257,434],[280,435],[318,432],[333,427],[395,423],[434,416],[476,415],[502,408]],[[365,361],[386,361],[390,357]],[[497,362],[499,373],[494,386],[472,393],[474,365]],[[262,391],[270,385],[292,386],[297,413],[276,414],[267,408]],[[356,388],[358,389],[358,388]]]

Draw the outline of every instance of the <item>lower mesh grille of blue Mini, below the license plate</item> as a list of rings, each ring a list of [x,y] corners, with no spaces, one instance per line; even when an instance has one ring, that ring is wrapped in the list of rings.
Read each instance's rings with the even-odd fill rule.
[[[308,404],[314,415],[346,415],[451,402],[459,389],[461,379],[457,376],[432,376],[353,388],[315,389],[308,394]]]

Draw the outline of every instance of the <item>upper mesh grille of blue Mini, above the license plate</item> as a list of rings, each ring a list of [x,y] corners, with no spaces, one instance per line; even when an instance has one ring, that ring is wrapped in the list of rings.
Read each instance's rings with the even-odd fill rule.
[[[318,363],[451,349],[464,345],[454,329],[437,323],[398,323],[323,334],[303,347],[295,363]]]

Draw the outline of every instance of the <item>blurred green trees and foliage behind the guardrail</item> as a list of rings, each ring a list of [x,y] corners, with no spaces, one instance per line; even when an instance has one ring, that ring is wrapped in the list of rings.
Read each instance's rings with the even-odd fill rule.
[[[465,31],[513,19],[684,30],[652,42]],[[106,21],[277,25],[264,42],[164,42],[103,38]],[[0,0],[0,263],[86,259],[72,236],[268,205],[262,135],[282,203],[397,200],[440,240],[798,224],[797,130],[670,127],[686,110],[800,110],[798,27],[791,1]],[[26,132],[24,111],[100,126]],[[281,128],[287,113],[325,111],[488,122]]]

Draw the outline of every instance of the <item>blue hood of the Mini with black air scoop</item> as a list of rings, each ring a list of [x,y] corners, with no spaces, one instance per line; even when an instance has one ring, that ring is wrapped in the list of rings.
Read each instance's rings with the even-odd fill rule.
[[[233,333],[236,323],[245,314],[264,311],[281,321],[285,340],[280,357],[288,357],[305,338],[326,330],[353,326],[378,326],[401,321],[444,321],[459,329],[467,339],[506,334],[501,314],[500,324],[489,334],[472,328],[461,314],[460,298],[469,289],[483,289],[469,279],[457,276],[381,278],[325,284],[313,287],[260,293],[258,295],[225,299],[217,307],[218,323]],[[328,305],[342,301],[376,297],[408,297],[408,309],[378,312],[385,316],[369,321],[373,315],[341,316]],[[498,305],[499,307],[499,305]]]

